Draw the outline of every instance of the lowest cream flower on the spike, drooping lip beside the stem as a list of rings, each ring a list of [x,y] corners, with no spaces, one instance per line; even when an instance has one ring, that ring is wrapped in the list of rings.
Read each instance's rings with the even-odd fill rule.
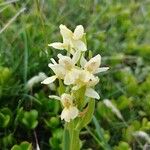
[[[70,94],[62,94],[61,97],[52,95],[49,96],[50,98],[54,98],[57,100],[60,100],[64,109],[61,113],[61,120],[65,120],[66,122],[70,122],[70,120],[75,119],[78,114],[79,110],[76,106],[73,104],[73,97]]]

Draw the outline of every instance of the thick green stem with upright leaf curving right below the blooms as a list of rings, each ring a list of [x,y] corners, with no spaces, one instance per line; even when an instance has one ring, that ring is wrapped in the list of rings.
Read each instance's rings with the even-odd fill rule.
[[[63,150],[80,150],[79,134],[81,129],[87,126],[87,124],[91,121],[94,113],[94,108],[95,108],[95,100],[90,99],[83,117],[77,120],[76,119],[72,120],[69,123],[66,123],[65,130],[67,130],[69,134],[66,133],[66,131],[64,131]]]

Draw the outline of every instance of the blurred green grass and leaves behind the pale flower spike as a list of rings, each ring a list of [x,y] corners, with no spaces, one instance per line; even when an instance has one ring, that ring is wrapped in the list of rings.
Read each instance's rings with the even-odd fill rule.
[[[150,142],[150,1],[149,0],[0,0],[0,149],[61,150],[60,105],[55,90],[29,79],[44,72],[61,41],[59,25],[82,24],[88,50],[101,54],[96,87],[101,99],[95,117],[81,132],[83,150],[140,150]],[[53,87],[54,88],[54,87]],[[109,99],[120,120],[103,103]],[[135,137],[143,131],[147,138]],[[26,143],[22,143],[27,141]],[[18,148],[19,147],[19,148]],[[18,149],[17,149],[18,148]],[[27,148],[26,148],[27,149]],[[30,148],[31,149],[31,148]]]

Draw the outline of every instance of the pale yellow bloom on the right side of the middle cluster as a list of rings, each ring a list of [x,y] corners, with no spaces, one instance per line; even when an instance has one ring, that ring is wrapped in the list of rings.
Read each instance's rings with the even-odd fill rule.
[[[78,90],[85,86],[85,96],[99,99],[99,94],[94,90],[94,86],[99,82],[99,78],[95,76],[96,73],[108,70],[108,67],[101,67],[101,56],[98,54],[87,61],[83,56],[80,59],[82,69],[74,70],[71,77],[74,78],[75,86],[73,90]]]

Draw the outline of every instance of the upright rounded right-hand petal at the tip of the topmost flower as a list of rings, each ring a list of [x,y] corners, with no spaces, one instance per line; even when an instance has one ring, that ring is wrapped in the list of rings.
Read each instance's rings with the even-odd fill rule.
[[[79,40],[83,37],[83,35],[84,35],[84,28],[82,25],[78,25],[74,30],[73,38],[75,40]]]

